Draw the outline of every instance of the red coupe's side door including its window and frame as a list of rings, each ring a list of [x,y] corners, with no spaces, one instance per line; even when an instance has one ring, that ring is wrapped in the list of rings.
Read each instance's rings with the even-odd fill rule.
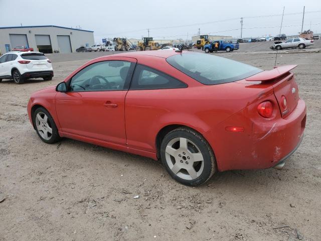
[[[94,62],[57,92],[61,131],[116,144],[126,144],[124,102],[136,63],[133,58]]]

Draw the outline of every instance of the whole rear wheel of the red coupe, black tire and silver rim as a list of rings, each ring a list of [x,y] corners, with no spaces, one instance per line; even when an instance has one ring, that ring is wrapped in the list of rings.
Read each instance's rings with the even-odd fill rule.
[[[184,144],[187,144],[187,148]],[[190,128],[177,128],[165,136],[161,145],[161,158],[172,178],[184,185],[204,184],[216,172],[212,148],[199,133]]]

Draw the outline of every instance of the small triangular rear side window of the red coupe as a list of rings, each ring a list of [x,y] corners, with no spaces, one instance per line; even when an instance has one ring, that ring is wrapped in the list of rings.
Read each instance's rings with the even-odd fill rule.
[[[187,84],[155,69],[137,65],[130,89],[186,88]]]

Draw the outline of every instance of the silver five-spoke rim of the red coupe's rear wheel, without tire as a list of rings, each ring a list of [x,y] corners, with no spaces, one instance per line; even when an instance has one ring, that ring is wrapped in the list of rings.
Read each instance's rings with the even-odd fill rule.
[[[166,146],[165,155],[171,171],[184,180],[194,180],[204,170],[199,147],[187,138],[173,138]]]

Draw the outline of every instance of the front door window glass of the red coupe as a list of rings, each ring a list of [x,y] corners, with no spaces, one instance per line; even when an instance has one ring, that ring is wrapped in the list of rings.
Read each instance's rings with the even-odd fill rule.
[[[91,64],[75,74],[69,91],[107,91],[128,89],[131,62],[110,60]],[[127,86],[126,86],[127,85]]]

